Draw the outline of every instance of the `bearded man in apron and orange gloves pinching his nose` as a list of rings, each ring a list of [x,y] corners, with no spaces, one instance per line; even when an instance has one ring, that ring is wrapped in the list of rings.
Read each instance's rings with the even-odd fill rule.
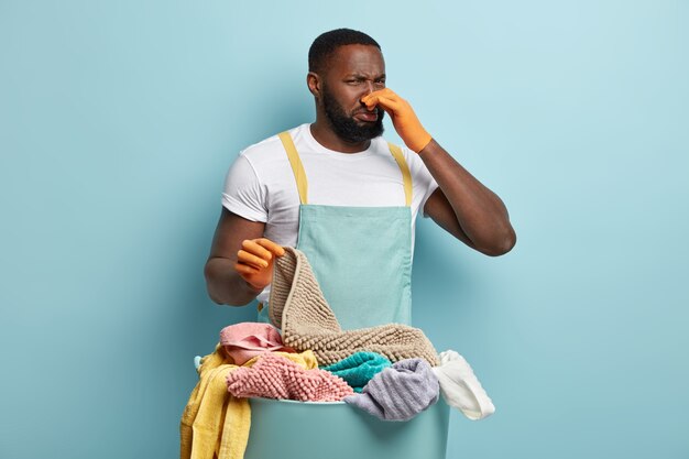
[[[218,304],[264,303],[274,258],[292,245],[306,253],[342,328],[408,324],[418,210],[493,256],[516,241],[507,210],[385,87],[373,39],[326,32],[308,61],[316,121],[248,147],[230,168],[208,293]],[[407,149],[382,139],[385,114]]]

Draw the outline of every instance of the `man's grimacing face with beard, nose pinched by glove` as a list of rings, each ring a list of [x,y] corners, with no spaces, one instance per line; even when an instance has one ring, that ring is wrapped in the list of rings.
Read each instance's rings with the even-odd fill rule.
[[[361,102],[363,96],[385,87],[385,62],[380,50],[340,46],[324,74],[320,103],[338,136],[359,143],[381,135],[385,111],[380,107],[369,111]]]

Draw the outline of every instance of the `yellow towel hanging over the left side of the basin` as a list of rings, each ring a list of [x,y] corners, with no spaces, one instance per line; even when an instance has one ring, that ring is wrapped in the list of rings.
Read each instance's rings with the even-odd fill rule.
[[[310,350],[300,353],[273,352],[306,370],[318,368]],[[242,367],[253,367],[254,357]],[[181,459],[242,459],[249,441],[251,407],[248,398],[227,391],[227,375],[239,367],[228,363],[220,345],[201,359],[199,381],[192,391],[179,423]]]

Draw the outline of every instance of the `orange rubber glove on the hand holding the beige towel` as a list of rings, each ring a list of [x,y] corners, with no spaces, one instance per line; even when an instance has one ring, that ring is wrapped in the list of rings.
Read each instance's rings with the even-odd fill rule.
[[[285,254],[285,249],[270,239],[245,239],[237,252],[234,271],[255,291],[262,291],[273,281],[273,260]]]

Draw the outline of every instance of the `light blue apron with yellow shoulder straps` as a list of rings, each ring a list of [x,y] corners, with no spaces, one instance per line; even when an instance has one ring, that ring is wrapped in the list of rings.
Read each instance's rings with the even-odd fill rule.
[[[308,258],[342,329],[411,325],[412,175],[400,147],[389,144],[402,175],[404,206],[321,206],[308,204],[308,182],[292,136],[283,132],[280,139],[299,194],[296,248]]]

